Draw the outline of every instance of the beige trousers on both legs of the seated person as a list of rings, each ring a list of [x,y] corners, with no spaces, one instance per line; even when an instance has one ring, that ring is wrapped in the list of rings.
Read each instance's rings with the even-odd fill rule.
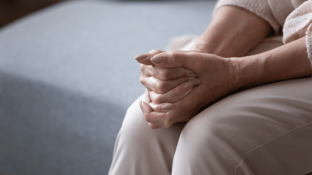
[[[139,100],[126,113],[109,175],[312,172],[312,78],[238,92],[167,129],[149,128]]]

